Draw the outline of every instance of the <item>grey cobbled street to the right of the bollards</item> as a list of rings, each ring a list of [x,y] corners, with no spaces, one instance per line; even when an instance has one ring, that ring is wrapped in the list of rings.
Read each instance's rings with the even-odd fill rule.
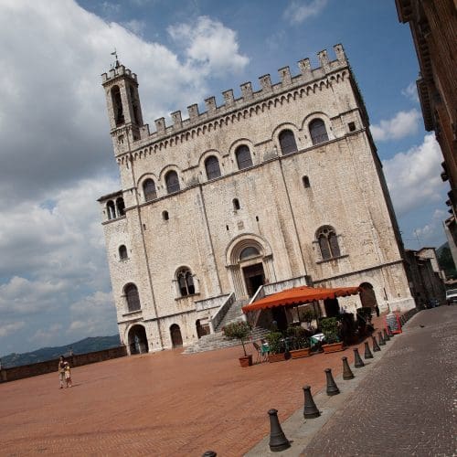
[[[457,454],[457,306],[416,314],[392,344],[303,455]]]

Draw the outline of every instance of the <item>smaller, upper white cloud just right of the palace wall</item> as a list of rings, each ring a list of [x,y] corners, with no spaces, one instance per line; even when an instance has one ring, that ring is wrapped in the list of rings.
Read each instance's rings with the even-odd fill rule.
[[[409,112],[398,112],[392,119],[371,125],[376,141],[399,140],[418,132],[420,112],[415,108]]]

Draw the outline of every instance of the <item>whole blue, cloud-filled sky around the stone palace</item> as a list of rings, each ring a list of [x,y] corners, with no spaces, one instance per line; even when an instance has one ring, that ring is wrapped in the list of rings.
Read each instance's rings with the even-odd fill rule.
[[[119,188],[101,73],[116,48],[145,122],[342,43],[405,244],[440,246],[441,154],[394,0],[2,0],[0,356],[117,332],[96,199]]]

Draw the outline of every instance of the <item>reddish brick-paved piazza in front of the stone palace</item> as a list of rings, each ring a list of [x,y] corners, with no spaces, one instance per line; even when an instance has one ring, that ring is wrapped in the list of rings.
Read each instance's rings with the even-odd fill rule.
[[[353,361],[348,348],[241,368],[241,351],[122,357],[74,368],[73,388],[57,373],[1,384],[0,454],[238,456],[269,432],[268,409],[284,420],[303,385],[315,393],[324,368]]]

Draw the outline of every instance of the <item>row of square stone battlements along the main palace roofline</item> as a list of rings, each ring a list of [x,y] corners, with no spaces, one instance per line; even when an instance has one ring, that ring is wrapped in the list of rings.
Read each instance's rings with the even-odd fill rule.
[[[198,105],[192,104],[187,107],[187,119],[183,120],[180,111],[171,113],[172,125],[166,125],[165,118],[156,119],[154,121],[155,132],[151,133],[152,138],[150,139],[154,141],[161,140],[166,136],[174,135],[201,123],[225,116],[229,112],[243,110],[254,103],[270,99],[274,95],[280,95],[282,92],[292,90],[296,87],[303,86],[304,84],[310,84],[310,89],[315,90],[313,86],[314,82],[317,83],[317,87],[320,87],[318,80],[324,80],[338,70],[346,69],[348,67],[343,46],[340,44],[335,45],[334,50],[335,60],[330,60],[328,58],[326,50],[320,51],[317,54],[320,65],[315,69],[312,69],[309,58],[300,60],[298,62],[298,68],[300,69],[298,75],[292,76],[289,67],[279,69],[278,73],[280,80],[276,84],[271,83],[271,75],[267,74],[260,76],[260,90],[253,90],[250,81],[241,84],[241,96],[238,99],[235,99],[232,89],[225,90],[222,92],[224,103],[220,106],[217,105],[216,97],[208,97],[205,100],[206,112],[199,112]],[[325,86],[328,86],[328,82],[325,83]],[[306,93],[308,92],[309,90],[306,90]]]

